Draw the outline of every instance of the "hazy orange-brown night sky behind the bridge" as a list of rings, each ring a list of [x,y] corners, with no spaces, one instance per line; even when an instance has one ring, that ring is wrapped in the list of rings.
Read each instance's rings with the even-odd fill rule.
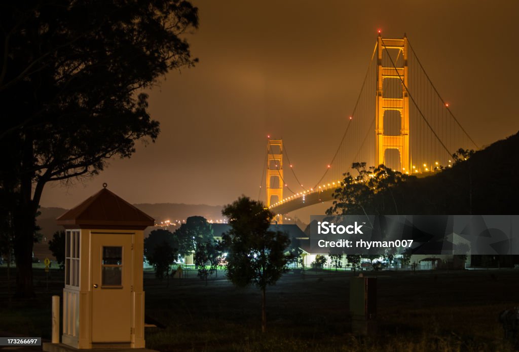
[[[103,182],[133,203],[257,198],[267,134],[283,138],[302,183],[315,183],[344,133],[378,29],[407,33],[477,144],[519,130],[517,1],[193,3],[200,28],[187,39],[200,62],[149,92],[157,142],[138,142],[131,159],[111,160],[93,179],[47,184],[42,206],[73,207]]]

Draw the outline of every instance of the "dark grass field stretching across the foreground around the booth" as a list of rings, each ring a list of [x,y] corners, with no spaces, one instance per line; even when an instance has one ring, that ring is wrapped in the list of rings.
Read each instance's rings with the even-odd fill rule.
[[[376,274],[376,275],[375,275]],[[218,273],[208,285],[188,278],[157,281],[145,272],[146,314],[167,325],[146,328],[146,345],[160,351],[508,351],[498,322],[519,305],[519,270],[378,272],[377,332],[351,333],[347,272],[286,274],[267,290],[267,333],[261,333],[261,296]],[[5,268],[0,299],[7,302]],[[35,268],[37,298],[0,307],[0,330],[50,337],[50,302],[62,273]]]

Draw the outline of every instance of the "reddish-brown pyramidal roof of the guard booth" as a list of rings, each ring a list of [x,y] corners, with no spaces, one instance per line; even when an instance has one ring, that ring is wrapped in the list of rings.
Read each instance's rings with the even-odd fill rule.
[[[155,224],[151,216],[106,188],[56,220],[65,228],[144,229]]]

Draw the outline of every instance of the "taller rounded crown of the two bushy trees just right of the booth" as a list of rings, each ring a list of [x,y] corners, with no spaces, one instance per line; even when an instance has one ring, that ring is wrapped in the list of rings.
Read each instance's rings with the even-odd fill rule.
[[[196,251],[199,243],[213,241],[213,228],[203,216],[189,216],[174,234],[179,239],[179,251],[182,255]]]

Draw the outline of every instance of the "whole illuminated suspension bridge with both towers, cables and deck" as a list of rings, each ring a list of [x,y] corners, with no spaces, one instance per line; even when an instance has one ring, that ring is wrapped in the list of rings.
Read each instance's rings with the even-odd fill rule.
[[[320,179],[304,186],[283,141],[268,136],[258,198],[266,179],[266,205],[281,223],[282,214],[332,200],[353,163],[384,164],[426,177],[452,167],[459,148],[478,146],[440,96],[407,36],[383,38],[379,31],[346,130]]]

